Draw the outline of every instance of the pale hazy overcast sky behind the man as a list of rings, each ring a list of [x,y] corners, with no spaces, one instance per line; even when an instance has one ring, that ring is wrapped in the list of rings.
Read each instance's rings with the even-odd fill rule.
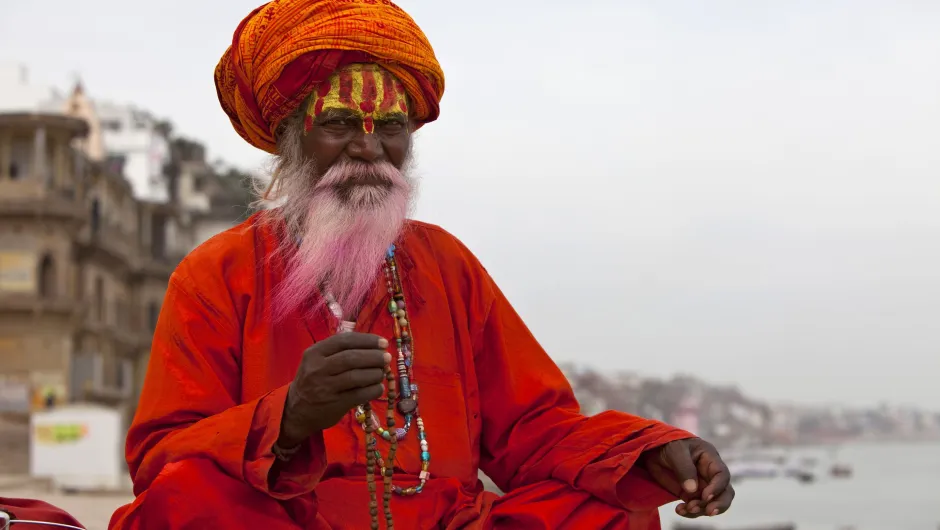
[[[212,70],[259,3],[7,2],[0,61],[257,168]],[[940,2],[400,5],[447,77],[418,217],[556,360],[940,408]]]

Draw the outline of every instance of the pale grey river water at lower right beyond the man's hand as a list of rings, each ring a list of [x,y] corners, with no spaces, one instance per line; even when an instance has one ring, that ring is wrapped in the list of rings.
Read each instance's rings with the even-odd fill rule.
[[[782,522],[798,530],[940,529],[940,443],[860,443],[837,455],[852,466],[851,478],[745,480],[735,484],[727,514],[695,522],[716,529]],[[664,530],[683,520],[674,508],[661,511]]]

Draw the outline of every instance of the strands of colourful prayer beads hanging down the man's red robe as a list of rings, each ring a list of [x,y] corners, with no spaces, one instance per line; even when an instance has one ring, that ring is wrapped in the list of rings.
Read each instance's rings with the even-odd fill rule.
[[[378,418],[372,411],[371,403],[364,403],[356,407],[356,421],[366,433],[366,485],[369,490],[369,515],[372,518],[372,528],[378,530],[378,497],[377,486],[375,483],[376,464],[382,476],[383,492],[382,500],[385,508],[385,522],[389,529],[393,529],[395,523],[392,518],[391,498],[392,493],[396,495],[409,496],[417,495],[424,489],[424,485],[430,478],[428,471],[431,462],[431,453],[428,449],[427,433],[424,430],[424,420],[418,412],[418,385],[414,381],[414,342],[411,334],[411,323],[408,321],[408,313],[405,308],[405,294],[402,288],[401,278],[398,274],[398,266],[395,262],[395,245],[388,248],[385,256],[385,284],[389,293],[388,312],[392,317],[395,330],[395,346],[398,350],[396,367],[398,369],[398,378],[396,381],[395,373],[391,366],[385,367],[385,379],[387,385],[386,400],[388,411],[386,413],[386,429],[379,425]],[[327,305],[330,311],[337,318],[339,325],[337,333],[346,333],[355,328],[355,323],[343,319],[343,310],[336,302],[335,298],[329,293],[326,295]],[[395,409],[402,414],[405,423],[402,427],[395,428]],[[398,441],[403,440],[411,429],[412,421],[418,427],[418,444],[421,448],[421,471],[418,475],[419,483],[417,486],[402,488],[392,483],[392,474],[395,466],[395,453],[398,450]],[[389,442],[388,456],[383,462],[382,454],[378,449],[378,439]]]

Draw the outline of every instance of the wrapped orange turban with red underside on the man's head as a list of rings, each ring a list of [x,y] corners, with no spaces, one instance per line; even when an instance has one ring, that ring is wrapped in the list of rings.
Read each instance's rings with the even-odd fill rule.
[[[352,63],[378,63],[395,75],[419,125],[437,119],[444,72],[421,28],[389,0],[265,4],[238,25],[215,68],[215,87],[238,134],[275,153],[281,120]]]

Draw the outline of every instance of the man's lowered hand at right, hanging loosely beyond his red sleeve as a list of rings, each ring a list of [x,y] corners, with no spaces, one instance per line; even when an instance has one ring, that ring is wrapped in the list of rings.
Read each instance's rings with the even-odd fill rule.
[[[682,499],[676,513],[694,519],[728,511],[731,473],[715,447],[700,438],[678,440],[643,453],[642,463],[660,486]]]

